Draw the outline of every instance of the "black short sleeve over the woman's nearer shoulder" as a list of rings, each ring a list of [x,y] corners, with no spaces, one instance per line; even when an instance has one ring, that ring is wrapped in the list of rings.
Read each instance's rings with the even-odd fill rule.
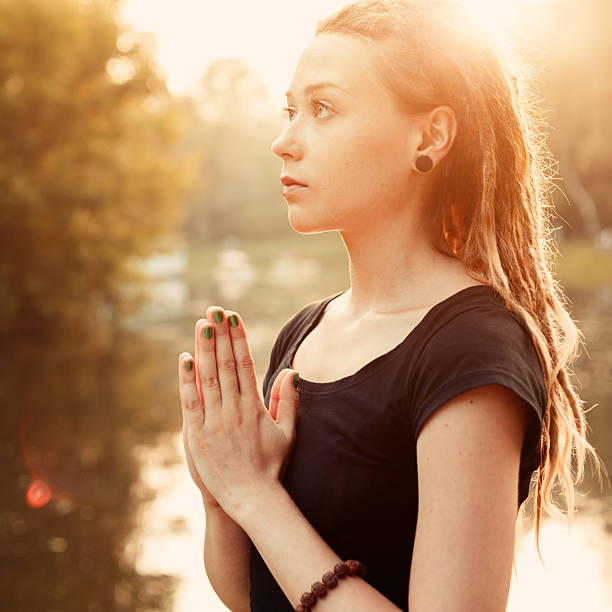
[[[411,379],[409,433],[415,443],[427,418],[445,402],[470,389],[499,384],[530,408],[521,469],[531,473],[539,465],[548,393],[531,335],[518,315],[501,309],[457,315],[422,348]]]

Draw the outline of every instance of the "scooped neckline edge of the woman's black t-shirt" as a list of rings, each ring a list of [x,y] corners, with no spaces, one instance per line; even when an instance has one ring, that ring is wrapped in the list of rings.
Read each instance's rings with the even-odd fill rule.
[[[431,317],[440,310],[443,306],[447,305],[449,302],[456,300],[459,296],[464,296],[469,293],[478,293],[482,290],[486,292],[495,291],[495,289],[490,285],[471,285],[470,287],[466,287],[453,293],[448,296],[441,302],[434,304],[421,318],[421,320],[410,330],[408,335],[396,346],[392,349],[388,350],[386,353],[382,355],[378,355],[365,365],[363,365],[359,370],[349,374],[348,376],[343,376],[342,378],[338,378],[336,380],[331,380],[327,382],[316,382],[312,380],[307,380],[305,378],[300,377],[298,389],[300,391],[306,392],[316,392],[316,393],[331,393],[338,391],[340,389],[345,389],[346,387],[350,387],[361,382],[364,378],[367,378],[375,373],[378,367],[384,363],[384,361],[390,357],[399,353],[405,346],[407,346],[412,339],[421,331],[421,329],[426,325]],[[293,357],[297,352],[298,347],[303,342],[304,338],[312,332],[312,330],[319,324],[323,316],[323,312],[325,311],[326,306],[337,297],[340,297],[343,293],[346,293],[348,289],[344,291],[340,291],[336,294],[333,294],[325,299],[323,299],[320,304],[314,309],[313,314],[311,315],[311,320],[308,325],[306,325],[300,334],[293,341],[289,350],[285,353],[285,359],[283,362],[283,367],[290,368],[291,362],[293,361]]]

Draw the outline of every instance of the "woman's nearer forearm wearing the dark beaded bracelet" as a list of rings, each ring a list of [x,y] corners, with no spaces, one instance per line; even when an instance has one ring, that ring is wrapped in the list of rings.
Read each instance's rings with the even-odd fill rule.
[[[235,515],[293,607],[310,586],[341,559],[306,520],[287,491],[252,496]],[[367,568],[366,568],[367,569]],[[367,575],[366,575],[367,578]],[[344,578],[324,598],[317,612],[399,610],[393,602],[358,576]]]

